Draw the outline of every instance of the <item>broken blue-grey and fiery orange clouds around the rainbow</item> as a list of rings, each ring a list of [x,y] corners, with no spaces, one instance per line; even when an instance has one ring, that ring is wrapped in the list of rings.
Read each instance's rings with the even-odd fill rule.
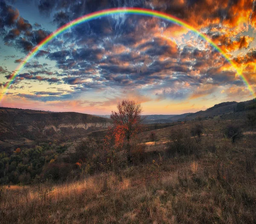
[[[40,13],[52,19],[51,26],[55,28],[81,15],[120,6],[138,6],[171,14],[212,38],[241,68],[248,81],[256,82],[253,49],[256,19],[251,0],[203,0],[200,3],[195,0],[41,0],[36,3]],[[12,46],[27,54],[50,34],[44,28],[45,23],[32,25],[12,6],[6,3],[3,6],[5,11],[0,9],[0,35],[6,47]],[[78,24],[38,51],[34,59],[15,79],[13,88],[31,80],[32,83],[55,83],[72,94],[86,91],[97,95],[102,91],[116,91],[116,95],[102,100],[104,105],[89,103],[96,107],[115,104],[120,97],[125,97],[122,94],[125,91],[128,94],[136,92],[131,97],[145,102],[160,102],[164,99],[197,99],[216,91],[220,94],[222,90],[223,96],[230,86],[237,89],[244,86],[230,63],[198,34],[155,17],[119,14]],[[15,63],[20,62],[21,59],[15,60]],[[10,79],[11,72],[4,69],[1,74]],[[24,86],[28,88],[27,84]],[[66,100],[60,96],[67,91],[33,90],[33,96],[29,94],[26,99]],[[85,105],[85,102],[76,103],[81,108]]]

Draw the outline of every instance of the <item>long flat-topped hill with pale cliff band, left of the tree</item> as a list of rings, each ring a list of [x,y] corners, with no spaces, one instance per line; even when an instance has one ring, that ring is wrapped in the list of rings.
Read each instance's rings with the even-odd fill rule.
[[[0,141],[26,138],[76,138],[111,126],[111,119],[74,112],[0,108]]]

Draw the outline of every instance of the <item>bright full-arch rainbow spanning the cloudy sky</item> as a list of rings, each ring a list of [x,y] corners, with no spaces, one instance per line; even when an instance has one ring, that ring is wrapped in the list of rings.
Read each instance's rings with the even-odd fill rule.
[[[84,22],[87,22],[87,21],[90,21],[90,20],[94,20],[94,19],[97,19],[97,18],[100,18],[100,17],[105,17],[105,16],[109,16],[109,15],[114,15],[114,14],[121,14],[121,13],[157,17],[157,18],[175,23],[177,25],[180,25],[180,26],[182,26],[182,27],[184,27],[184,28],[186,28],[190,31],[193,31],[195,34],[198,34],[198,36],[200,36],[202,39],[206,40],[210,45],[212,45],[212,47],[215,48],[230,63],[230,65],[233,66],[233,68],[236,70],[236,74],[239,77],[241,77],[241,79],[244,81],[245,85],[247,85],[247,88],[249,89],[249,91],[256,98],[256,93],[254,93],[253,88],[249,84],[248,80],[242,74],[241,69],[239,69],[236,66],[236,64],[230,59],[230,57],[223,50],[221,50],[221,48],[219,48],[218,45],[216,45],[214,42],[212,42],[212,40],[209,39],[209,37],[207,37],[205,34],[202,34],[200,31],[193,28],[192,26],[185,23],[184,21],[182,21],[182,20],[180,20],[180,19],[178,19],[174,16],[171,16],[169,14],[163,13],[163,12],[159,12],[159,11],[155,11],[155,10],[151,10],[151,9],[141,9],[141,8],[115,8],[115,9],[105,9],[105,10],[102,10],[102,11],[96,11],[96,12],[84,15],[82,17],[79,17],[76,20],[73,20],[73,21],[65,24],[64,26],[61,26],[56,31],[54,31],[52,34],[50,34],[48,37],[46,37],[41,43],[39,43],[37,46],[35,46],[35,48],[33,48],[32,51],[29,52],[29,54],[23,59],[22,62],[20,62],[20,64],[16,68],[15,72],[10,77],[10,81],[4,86],[3,94],[2,94],[2,96],[0,96],[0,102],[3,99],[3,96],[5,95],[7,89],[9,88],[10,85],[12,85],[14,79],[18,76],[20,70],[24,67],[24,65],[26,65],[26,63],[32,57],[34,57],[35,54],[42,47],[44,47],[44,45],[49,43],[52,39],[54,39],[55,37],[57,37],[59,34],[63,33],[64,31],[66,31],[68,28],[76,26],[80,23],[84,23]]]

